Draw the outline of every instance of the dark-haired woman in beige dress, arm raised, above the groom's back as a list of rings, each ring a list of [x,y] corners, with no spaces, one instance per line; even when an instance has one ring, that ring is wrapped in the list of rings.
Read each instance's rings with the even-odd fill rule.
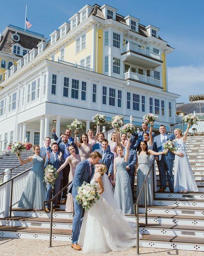
[[[87,160],[90,157],[92,145],[89,144],[89,138],[86,133],[83,133],[80,138],[80,142],[77,141],[77,131],[74,132],[74,143],[79,148],[79,155],[81,161]]]

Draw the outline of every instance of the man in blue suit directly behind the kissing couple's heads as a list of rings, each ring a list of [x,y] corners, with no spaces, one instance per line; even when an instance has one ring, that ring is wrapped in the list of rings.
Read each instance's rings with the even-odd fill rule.
[[[103,139],[101,143],[101,148],[96,149],[95,151],[99,152],[102,155],[100,163],[105,163],[105,165],[107,166],[108,170],[106,174],[108,175],[108,177],[113,177],[114,154],[108,150],[108,140]]]

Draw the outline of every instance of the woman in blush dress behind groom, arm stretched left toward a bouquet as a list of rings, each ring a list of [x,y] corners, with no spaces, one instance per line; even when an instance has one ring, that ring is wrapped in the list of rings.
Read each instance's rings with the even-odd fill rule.
[[[75,168],[76,168],[77,164],[80,163],[81,159],[80,159],[80,155],[76,154],[76,150],[72,145],[70,145],[68,147],[68,150],[71,155],[66,158],[65,163],[63,163],[59,167],[57,172],[59,173],[69,163],[69,165],[70,165],[69,182],[71,182],[74,177]],[[72,199],[71,193],[68,193],[65,211],[73,212],[73,210],[74,210],[73,209],[73,199]]]

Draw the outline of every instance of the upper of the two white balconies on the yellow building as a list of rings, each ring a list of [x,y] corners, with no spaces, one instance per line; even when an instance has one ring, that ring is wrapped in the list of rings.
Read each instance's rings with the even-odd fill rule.
[[[137,64],[137,66],[144,68],[158,67],[163,63],[160,60],[161,56],[159,53],[131,42],[123,46],[121,55],[123,56],[123,61],[133,65]]]

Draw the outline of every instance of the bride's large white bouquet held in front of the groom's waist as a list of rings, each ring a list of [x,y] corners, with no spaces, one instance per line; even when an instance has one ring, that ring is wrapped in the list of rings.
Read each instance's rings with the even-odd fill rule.
[[[90,185],[85,181],[77,188],[77,192],[77,203],[82,205],[85,210],[90,210],[91,206],[96,202],[96,199],[99,200],[100,198],[97,186]]]

